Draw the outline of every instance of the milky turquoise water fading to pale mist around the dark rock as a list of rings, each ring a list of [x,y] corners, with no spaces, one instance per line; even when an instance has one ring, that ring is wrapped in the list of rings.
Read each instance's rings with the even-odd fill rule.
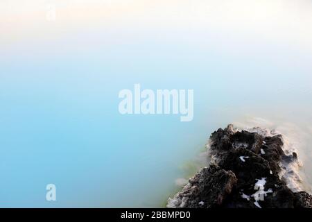
[[[213,130],[254,117],[306,132],[312,184],[308,1],[30,2],[1,3],[0,207],[162,206]],[[119,114],[135,83],[193,89],[193,121]]]

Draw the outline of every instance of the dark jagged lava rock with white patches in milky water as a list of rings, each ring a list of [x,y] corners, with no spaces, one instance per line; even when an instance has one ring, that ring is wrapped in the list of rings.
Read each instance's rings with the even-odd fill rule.
[[[210,142],[209,166],[169,198],[167,207],[312,207],[312,196],[292,191],[280,175],[281,163],[297,161],[296,153],[284,153],[281,135],[239,131],[229,125],[212,133]]]

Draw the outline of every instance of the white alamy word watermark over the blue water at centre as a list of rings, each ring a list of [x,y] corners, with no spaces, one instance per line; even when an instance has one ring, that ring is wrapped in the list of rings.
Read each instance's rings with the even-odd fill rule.
[[[193,120],[193,89],[141,90],[135,84],[134,92],[122,89],[119,98],[121,114],[180,114],[180,121]]]

